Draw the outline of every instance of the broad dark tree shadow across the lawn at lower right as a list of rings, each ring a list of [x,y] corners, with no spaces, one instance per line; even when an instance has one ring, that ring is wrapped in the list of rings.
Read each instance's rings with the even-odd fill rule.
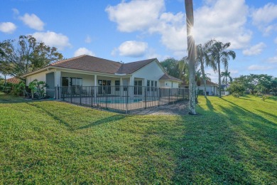
[[[205,116],[183,117],[185,135],[176,151],[173,184],[271,184],[277,180],[276,127],[264,124],[273,122],[229,103],[231,107],[218,106],[222,113],[198,107]]]

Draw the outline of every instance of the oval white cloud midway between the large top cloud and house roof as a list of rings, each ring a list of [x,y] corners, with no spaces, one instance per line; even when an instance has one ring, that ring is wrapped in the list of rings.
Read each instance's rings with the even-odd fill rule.
[[[119,52],[119,56],[129,56],[129,57],[141,57],[146,54],[146,50],[148,48],[148,44],[139,41],[126,41],[121,43],[119,48],[114,50],[114,52]]]

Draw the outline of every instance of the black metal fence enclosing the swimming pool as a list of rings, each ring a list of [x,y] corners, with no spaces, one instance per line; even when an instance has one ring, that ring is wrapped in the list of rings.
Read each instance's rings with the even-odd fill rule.
[[[55,99],[79,105],[129,112],[188,100],[188,89],[145,86],[71,86],[47,89]]]

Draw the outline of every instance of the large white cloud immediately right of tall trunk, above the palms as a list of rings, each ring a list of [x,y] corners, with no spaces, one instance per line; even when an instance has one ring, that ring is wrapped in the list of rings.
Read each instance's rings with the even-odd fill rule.
[[[205,43],[211,38],[232,43],[230,48],[244,48],[251,40],[245,24],[249,12],[244,0],[219,0],[195,10],[195,42]]]

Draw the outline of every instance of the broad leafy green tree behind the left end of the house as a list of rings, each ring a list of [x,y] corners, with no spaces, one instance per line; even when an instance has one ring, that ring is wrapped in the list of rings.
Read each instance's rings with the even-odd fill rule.
[[[19,36],[18,41],[3,41],[0,48],[1,53],[4,53],[0,56],[0,73],[16,78],[63,58],[57,48],[38,43],[33,36]]]

